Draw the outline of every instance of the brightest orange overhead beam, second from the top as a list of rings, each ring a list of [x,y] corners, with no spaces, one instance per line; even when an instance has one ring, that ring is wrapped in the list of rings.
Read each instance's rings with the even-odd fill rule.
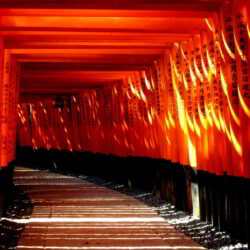
[[[138,26],[138,23],[140,25]],[[1,17],[1,30],[70,32],[167,32],[205,30],[204,18],[149,17]]]

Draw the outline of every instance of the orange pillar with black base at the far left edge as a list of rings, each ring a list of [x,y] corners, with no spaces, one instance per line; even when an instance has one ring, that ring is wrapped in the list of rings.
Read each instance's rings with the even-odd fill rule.
[[[4,49],[0,34],[0,216],[8,203],[15,159],[16,100],[18,96],[16,61]]]

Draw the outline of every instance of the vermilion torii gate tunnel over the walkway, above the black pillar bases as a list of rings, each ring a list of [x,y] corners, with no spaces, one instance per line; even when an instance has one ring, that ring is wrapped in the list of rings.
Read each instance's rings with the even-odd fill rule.
[[[248,0],[1,0],[1,171],[17,145],[248,183],[249,26]]]

